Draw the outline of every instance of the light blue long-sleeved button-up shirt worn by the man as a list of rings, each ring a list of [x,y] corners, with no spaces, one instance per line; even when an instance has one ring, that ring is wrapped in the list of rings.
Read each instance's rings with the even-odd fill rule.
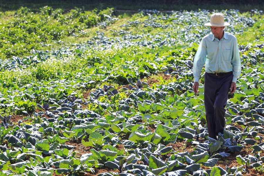
[[[241,74],[241,60],[236,37],[225,31],[220,41],[212,33],[204,36],[194,57],[194,82],[199,81],[204,64],[207,73],[233,71],[232,82],[236,83]]]

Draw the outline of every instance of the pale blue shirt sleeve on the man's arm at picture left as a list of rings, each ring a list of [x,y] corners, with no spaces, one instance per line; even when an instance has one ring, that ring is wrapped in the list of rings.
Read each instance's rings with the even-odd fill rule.
[[[198,82],[200,79],[201,71],[205,64],[206,56],[207,56],[207,46],[206,46],[206,41],[203,38],[201,43],[199,44],[199,47],[197,49],[193,61],[194,82]]]

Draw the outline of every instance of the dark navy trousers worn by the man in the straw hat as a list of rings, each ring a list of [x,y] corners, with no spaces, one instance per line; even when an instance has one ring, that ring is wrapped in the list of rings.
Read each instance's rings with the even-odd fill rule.
[[[216,76],[204,75],[204,107],[207,129],[210,138],[217,139],[225,128],[225,106],[233,74]]]

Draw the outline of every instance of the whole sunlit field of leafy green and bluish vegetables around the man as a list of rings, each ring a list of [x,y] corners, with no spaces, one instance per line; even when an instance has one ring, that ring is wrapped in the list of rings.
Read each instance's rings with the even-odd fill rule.
[[[193,58],[214,12],[242,62],[209,138]],[[264,14],[0,12],[0,176],[264,175]]]

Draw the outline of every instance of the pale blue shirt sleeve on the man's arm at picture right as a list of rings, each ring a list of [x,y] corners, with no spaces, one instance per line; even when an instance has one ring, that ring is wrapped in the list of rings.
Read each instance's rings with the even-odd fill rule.
[[[237,78],[241,74],[241,60],[240,60],[240,54],[239,54],[238,44],[237,44],[236,38],[235,38],[235,40],[233,42],[233,53],[232,53],[231,64],[233,66],[233,79],[232,79],[232,82],[236,83]]]

